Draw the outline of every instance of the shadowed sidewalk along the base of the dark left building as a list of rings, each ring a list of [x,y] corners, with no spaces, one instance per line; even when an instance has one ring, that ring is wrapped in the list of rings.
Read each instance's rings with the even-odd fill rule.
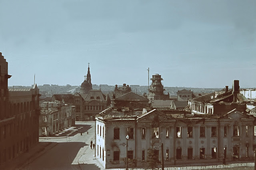
[[[20,154],[14,160],[10,160],[5,166],[0,166],[0,169],[3,170],[15,170],[15,169],[22,169],[24,166],[29,164],[30,162],[34,161],[36,158],[44,154],[47,150],[53,148],[58,143],[56,142],[39,142],[28,152],[24,152]]]

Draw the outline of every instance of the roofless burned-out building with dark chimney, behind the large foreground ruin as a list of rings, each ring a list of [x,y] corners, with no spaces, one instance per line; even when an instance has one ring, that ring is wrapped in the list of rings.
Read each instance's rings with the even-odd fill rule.
[[[239,81],[234,80],[232,89],[228,86],[222,91],[216,91],[196,97],[188,102],[192,114],[223,115],[233,109],[246,111],[244,96],[239,91]]]

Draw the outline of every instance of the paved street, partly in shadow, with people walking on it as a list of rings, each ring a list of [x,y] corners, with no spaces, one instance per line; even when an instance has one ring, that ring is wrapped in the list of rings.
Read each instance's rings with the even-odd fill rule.
[[[31,162],[26,170],[104,170],[94,158],[94,122],[76,122],[76,130],[68,138],[44,138],[40,142],[56,142],[56,146]],[[89,134],[87,134],[87,131]],[[82,136],[80,132],[83,132]],[[69,133],[69,131],[67,132]],[[66,133],[58,137],[66,136]],[[56,136],[54,136],[56,137]]]

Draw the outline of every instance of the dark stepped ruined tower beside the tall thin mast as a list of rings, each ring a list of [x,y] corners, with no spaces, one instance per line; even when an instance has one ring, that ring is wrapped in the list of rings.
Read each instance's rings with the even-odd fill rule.
[[[148,99],[149,100],[170,100],[169,92],[168,94],[164,94],[164,85],[162,85],[162,78],[159,74],[152,75],[152,83],[150,84],[150,88],[148,89]]]

